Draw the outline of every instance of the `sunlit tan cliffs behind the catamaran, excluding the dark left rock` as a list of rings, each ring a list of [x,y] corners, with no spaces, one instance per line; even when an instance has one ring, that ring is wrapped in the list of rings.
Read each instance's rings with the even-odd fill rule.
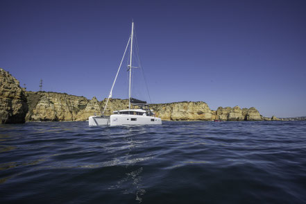
[[[85,121],[91,115],[99,115],[103,111],[106,99],[98,101],[83,96],[73,96],[56,92],[26,92],[28,98],[27,121]],[[210,110],[203,101],[182,101],[176,103],[151,104],[151,109],[163,120],[204,120],[222,119],[226,121],[263,120],[255,108],[219,107]],[[128,108],[127,99],[110,99],[105,115],[113,110]]]

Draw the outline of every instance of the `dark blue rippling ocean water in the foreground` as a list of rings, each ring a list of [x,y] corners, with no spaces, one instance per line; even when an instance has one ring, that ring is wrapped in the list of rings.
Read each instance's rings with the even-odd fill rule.
[[[306,121],[1,125],[0,203],[306,203]]]

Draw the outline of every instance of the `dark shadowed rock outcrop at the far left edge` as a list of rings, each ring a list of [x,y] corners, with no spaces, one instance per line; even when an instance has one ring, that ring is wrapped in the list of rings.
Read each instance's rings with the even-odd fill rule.
[[[0,68],[0,124],[22,124],[26,112],[26,95],[19,81]]]

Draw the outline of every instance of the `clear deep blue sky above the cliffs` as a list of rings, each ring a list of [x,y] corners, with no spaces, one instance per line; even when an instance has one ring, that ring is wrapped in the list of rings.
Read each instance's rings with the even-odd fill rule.
[[[306,1],[1,0],[0,67],[27,90],[42,78],[45,91],[102,100],[132,19],[153,103],[306,115]],[[113,97],[126,99],[120,85]]]

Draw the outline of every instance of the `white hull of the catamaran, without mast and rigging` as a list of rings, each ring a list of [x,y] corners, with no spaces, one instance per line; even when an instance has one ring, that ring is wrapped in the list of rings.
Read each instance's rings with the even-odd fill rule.
[[[161,125],[159,117],[133,115],[133,114],[112,114],[110,117],[91,116],[90,126],[132,126],[132,125]]]

